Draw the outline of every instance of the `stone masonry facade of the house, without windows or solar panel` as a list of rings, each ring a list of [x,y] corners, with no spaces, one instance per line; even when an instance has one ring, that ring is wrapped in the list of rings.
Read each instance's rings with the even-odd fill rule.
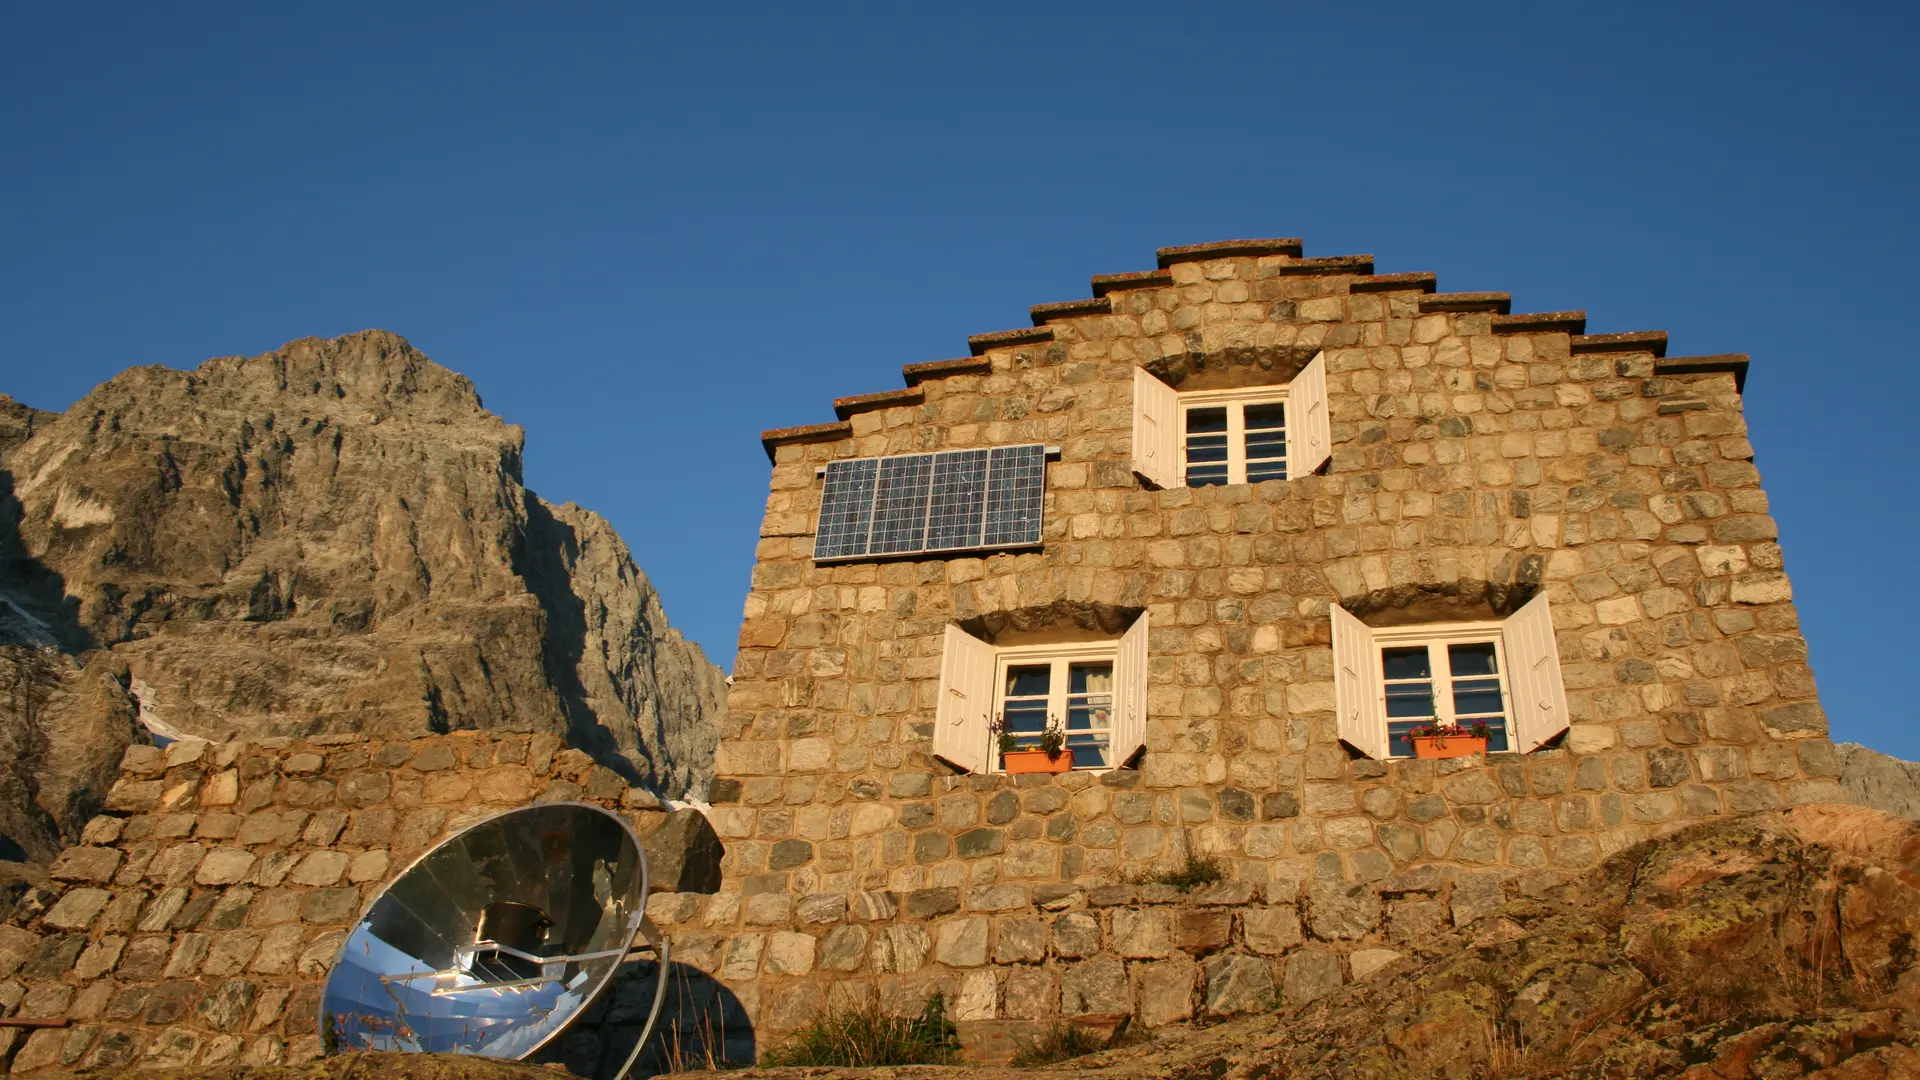
[[[1302,259],[1169,248],[906,367],[918,402],[766,432],[774,461],[718,749],[718,896],[655,899],[778,1040],[829,997],[973,1024],[1148,1026],[1363,978],[1421,926],[1715,815],[1836,801],[1807,646],[1741,419],[1745,357]],[[1227,252],[1231,258],[1213,258]],[[1279,384],[1325,356],[1323,475],[1152,490],[1135,367]],[[1044,442],[1044,544],[816,565],[839,457]],[[1338,738],[1329,607],[1494,619],[1546,590],[1571,726],[1528,755],[1373,761]],[[948,625],[1150,615],[1139,769],[954,774]],[[1227,880],[1140,884],[1213,857]]]

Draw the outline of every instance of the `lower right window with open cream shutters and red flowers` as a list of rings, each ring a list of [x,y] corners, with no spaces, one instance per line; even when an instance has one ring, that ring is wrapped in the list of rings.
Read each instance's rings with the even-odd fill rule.
[[[1371,628],[1332,607],[1340,738],[1407,757],[1419,724],[1488,726],[1488,751],[1532,751],[1567,730],[1553,623],[1542,592],[1498,623]]]

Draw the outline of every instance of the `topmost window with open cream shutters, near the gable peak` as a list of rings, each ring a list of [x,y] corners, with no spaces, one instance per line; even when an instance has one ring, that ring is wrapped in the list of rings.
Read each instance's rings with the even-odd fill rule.
[[[1160,488],[1258,484],[1319,471],[1331,457],[1327,363],[1284,386],[1175,392],[1133,377],[1133,471]]]

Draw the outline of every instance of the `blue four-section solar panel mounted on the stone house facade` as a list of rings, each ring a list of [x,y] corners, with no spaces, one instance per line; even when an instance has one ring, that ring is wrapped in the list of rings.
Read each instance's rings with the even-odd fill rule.
[[[1041,444],[831,461],[814,559],[1033,546],[1044,494]]]

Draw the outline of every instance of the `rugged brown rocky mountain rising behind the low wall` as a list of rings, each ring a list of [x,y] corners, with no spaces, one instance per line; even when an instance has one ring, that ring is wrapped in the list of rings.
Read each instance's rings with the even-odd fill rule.
[[[703,782],[724,673],[605,519],[526,490],[522,446],[380,331],[136,367],[60,415],[0,400],[0,642],[44,698],[0,698],[4,728],[79,786],[0,792],[42,815],[8,836],[71,834],[56,803],[90,811],[134,711],[205,738],[547,730]]]

